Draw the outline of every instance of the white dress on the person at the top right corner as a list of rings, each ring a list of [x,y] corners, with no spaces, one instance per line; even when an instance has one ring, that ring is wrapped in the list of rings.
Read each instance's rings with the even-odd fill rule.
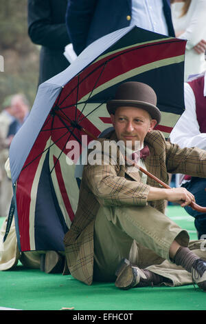
[[[187,39],[185,51],[185,81],[190,74],[198,74],[206,70],[205,53],[198,54],[193,47],[206,40],[206,0],[192,0],[190,8],[183,17],[181,8],[183,2],[172,3],[172,22],[175,32],[183,33],[180,39]]]

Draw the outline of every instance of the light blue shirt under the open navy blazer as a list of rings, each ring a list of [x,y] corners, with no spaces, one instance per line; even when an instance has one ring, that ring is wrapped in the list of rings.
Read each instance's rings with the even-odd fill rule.
[[[132,0],[130,25],[168,35],[162,0]]]

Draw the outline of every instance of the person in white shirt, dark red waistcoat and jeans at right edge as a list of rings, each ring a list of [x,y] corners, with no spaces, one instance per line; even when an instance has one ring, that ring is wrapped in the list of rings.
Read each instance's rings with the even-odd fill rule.
[[[184,84],[185,111],[177,121],[170,141],[181,148],[201,148],[206,150],[206,72],[190,78]],[[197,176],[180,176],[181,186],[194,194],[196,203],[206,207],[206,179]],[[190,216],[194,217],[198,239],[206,239],[206,213],[185,207]]]

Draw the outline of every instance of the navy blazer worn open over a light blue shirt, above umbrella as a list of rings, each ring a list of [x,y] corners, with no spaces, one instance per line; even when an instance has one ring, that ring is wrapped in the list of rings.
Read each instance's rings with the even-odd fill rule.
[[[73,49],[80,54],[96,39],[127,27],[131,16],[131,0],[69,0],[66,25]],[[170,0],[163,0],[163,11],[169,35],[174,37]]]

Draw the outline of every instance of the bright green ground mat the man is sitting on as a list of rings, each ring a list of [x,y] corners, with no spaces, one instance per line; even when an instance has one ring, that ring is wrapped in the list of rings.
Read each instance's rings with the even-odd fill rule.
[[[194,219],[179,206],[168,206],[168,216],[196,239]],[[0,225],[3,219],[0,219]],[[198,287],[142,287],[118,290],[113,283],[94,283],[90,287],[71,275],[45,274],[27,270],[0,272],[0,310],[206,310],[206,294]],[[73,312],[74,314],[75,312]]]

